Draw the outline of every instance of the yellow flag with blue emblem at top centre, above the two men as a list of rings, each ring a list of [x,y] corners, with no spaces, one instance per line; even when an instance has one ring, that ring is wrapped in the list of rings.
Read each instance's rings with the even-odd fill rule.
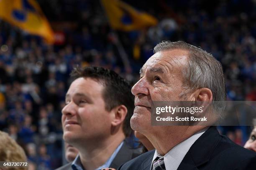
[[[153,16],[139,12],[120,0],[101,0],[101,2],[113,29],[132,31],[157,24],[157,19]]]

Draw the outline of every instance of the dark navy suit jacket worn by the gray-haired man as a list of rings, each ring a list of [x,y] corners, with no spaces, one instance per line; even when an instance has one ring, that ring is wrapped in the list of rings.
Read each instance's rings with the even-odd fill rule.
[[[118,170],[150,170],[154,152],[144,153]],[[256,170],[256,153],[236,145],[212,126],[191,146],[178,170]]]

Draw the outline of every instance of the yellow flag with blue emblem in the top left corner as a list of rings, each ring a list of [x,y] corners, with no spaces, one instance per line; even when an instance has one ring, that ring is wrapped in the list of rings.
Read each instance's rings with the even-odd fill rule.
[[[54,32],[35,0],[0,0],[0,19],[54,42]]]

